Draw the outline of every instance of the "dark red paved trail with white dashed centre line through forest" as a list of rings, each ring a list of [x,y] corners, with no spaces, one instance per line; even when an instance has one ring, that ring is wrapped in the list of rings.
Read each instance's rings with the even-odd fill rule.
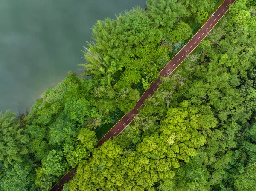
[[[122,117],[121,120],[119,120],[118,123],[116,123],[113,128],[111,128],[110,131],[108,131],[107,134],[105,134],[104,137],[102,137],[101,140],[99,140],[97,147],[99,145],[102,145],[106,140],[112,139],[113,136],[119,135],[122,130],[124,130],[129,123],[131,123],[132,120],[136,117],[137,114],[139,114],[140,109],[143,108],[144,101],[148,98],[154,95],[154,91],[157,91],[159,85],[162,83],[160,80],[160,77],[168,77],[172,72],[177,68],[180,63],[182,63],[183,60],[198,46],[198,44],[204,39],[204,37],[207,36],[209,31],[212,30],[212,28],[218,23],[218,21],[221,19],[221,17],[224,16],[224,14],[228,11],[230,4],[234,3],[236,0],[225,0],[221,6],[212,14],[212,16],[207,20],[207,22],[204,24],[204,26],[201,27],[201,29],[195,34],[194,37],[192,37],[191,40],[178,52],[178,54],[175,55],[175,57],[168,63],[166,66],[159,72],[159,78],[155,80],[155,82],[152,82],[150,84],[150,88],[147,89],[142,97],[140,97],[140,100],[136,103],[136,106],[132,111],[125,114],[124,117]],[[72,177],[76,174],[75,173],[67,173],[64,175],[64,177],[61,178],[59,185],[54,185],[50,191],[62,191],[63,185],[72,179]]]

